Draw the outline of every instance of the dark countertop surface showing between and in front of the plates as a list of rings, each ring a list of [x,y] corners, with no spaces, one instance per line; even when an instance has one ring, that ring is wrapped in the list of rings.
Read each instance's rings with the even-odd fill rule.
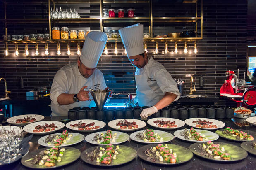
[[[53,120],[53,121],[59,121],[61,117],[45,117],[45,120]],[[231,119],[220,119],[220,121],[223,121],[226,124],[226,127],[229,126],[231,128],[239,128],[239,129],[244,129],[244,130],[253,130],[256,131],[256,126],[243,126],[239,127]],[[5,123],[6,124],[6,123]],[[4,125],[5,125],[4,124]],[[153,128],[152,126],[147,125],[144,129],[146,128]],[[182,128],[175,129],[175,130],[166,130],[167,132],[174,133],[176,130],[184,129],[184,128],[189,128],[189,126],[185,125]],[[69,130],[67,128],[63,128],[62,130]],[[108,130],[110,129],[107,126],[105,128],[101,129],[100,131]],[[155,129],[155,128],[153,128]],[[56,133],[62,132],[62,130],[57,131]],[[160,129],[158,129],[160,130]],[[69,132],[72,132],[72,130],[69,130]],[[77,131],[74,131],[77,133]],[[127,132],[129,135],[131,133]],[[88,135],[89,133],[82,133],[84,136]],[[28,136],[29,134],[24,133],[25,137]],[[33,138],[30,140],[29,145],[30,145],[30,152],[35,151],[36,149],[41,149],[43,148],[37,143],[37,140],[41,138],[41,135],[33,135]],[[234,142],[230,140],[225,140],[223,138],[219,138],[219,142],[226,142],[230,144],[234,144],[237,146],[240,146],[241,142]],[[168,142],[171,144],[177,144],[186,148],[189,148],[189,146],[192,144],[191,142],[179,140],[178,138],[173,139],[172,141]],[[132,147],[134,149],[138,149],[139,147],[144,146],[145,144],[141,144],[138,142],[134,142],[133,140],[129,139],[129,141],[122,143],[122,145],[126,145],[129,147]],[[93,147],[95,145],[87,143],[85,140],[83,142],[80,142],[79,144],[72,145],[71,147],[79,149],[81,152],[84,151],[87,148]],[[15,169],[15,170],[29,170],[29,168],[24,167],[20,161],[17,161],[16,163],[7,165],[3,167],[4,169]],[[160,166],[160,165],[155,165],[153,163],[148,163],[146,161],[141,160],[140,158],[136,157],[133,161],[120,165],[120,166],[115,166],[115,167],[110,167],[110,168],[105,168],[105,169],[111,169],[111,170],[253,170],[256,168],[256,157],[254,155],[248,154],[247,158],[243,159],[242,161],[236,161],[232,163],[219,163],[215,161],[208,161],[206,159],[200,158],[198,156],[195,156],[187,163],[181,164],[181,165],[168,165],[168,166]],[[2,168],[1,168],[2,169]],[[69,165],[66,165],[62,168],[55,168],[56,170],[84,170],[84,169],[90,169],[90,170],[98,170],[100,167],[89,165],[82,161],[80,158],[75,161],[74,163],[71,163]]]

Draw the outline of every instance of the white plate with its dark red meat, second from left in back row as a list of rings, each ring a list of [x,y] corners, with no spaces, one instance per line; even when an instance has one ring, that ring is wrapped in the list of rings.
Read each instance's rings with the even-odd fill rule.
[[[65,124],[59,121],[38,121],[24,126],[23,130],[36,135],[45,135],[60,130],[64,126]]]

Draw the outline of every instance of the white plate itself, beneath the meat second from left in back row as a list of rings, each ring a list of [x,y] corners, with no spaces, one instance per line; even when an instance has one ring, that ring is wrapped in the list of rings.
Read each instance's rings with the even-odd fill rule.
[[[33,130],[35,130],[36,126],[38,126],[38,125],[42,126],[42,125],[45,125],[46,123],[48,125],[50,125],[51,123],[54,123],[54,125],[57,126],[58,128],[55,128],[53,131],[49,131],[49,132],[33,132]],[[30,124],[24,126],[23,130],[25,132],[33,133],[33,134],[36,134],[36,135],[45,135],[45,134],[53,133],[53,132],[55,132],[57,130],[60,130],[64,126],[65,126],[65,124],[62,123],[62,122],[59,122],[59,121],[38,121],[38,122],[30,123]]]

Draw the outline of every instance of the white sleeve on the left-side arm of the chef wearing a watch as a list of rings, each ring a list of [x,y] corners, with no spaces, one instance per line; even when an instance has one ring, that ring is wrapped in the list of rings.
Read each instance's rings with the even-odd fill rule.
[[[62,93],[67,93],[67,75],[62,70],[59,70],[53,78],[50,95],[50,98],[55,105],[59,105],[57,97]]]

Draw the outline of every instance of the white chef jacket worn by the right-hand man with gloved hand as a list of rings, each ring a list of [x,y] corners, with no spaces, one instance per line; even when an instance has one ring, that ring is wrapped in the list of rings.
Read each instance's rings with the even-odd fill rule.
[[[179,99],[180,93],[175,81],[163,65],[153,58],[148,60],[144,68],[136,68],[135,71],[137,95],[134,102],[139,102],[139,106],[153,106],[163,98],[166,92],[177,95]],[[139,87],[143,84],[143,87]],[[147,90],[144,90],[147,89]]]

